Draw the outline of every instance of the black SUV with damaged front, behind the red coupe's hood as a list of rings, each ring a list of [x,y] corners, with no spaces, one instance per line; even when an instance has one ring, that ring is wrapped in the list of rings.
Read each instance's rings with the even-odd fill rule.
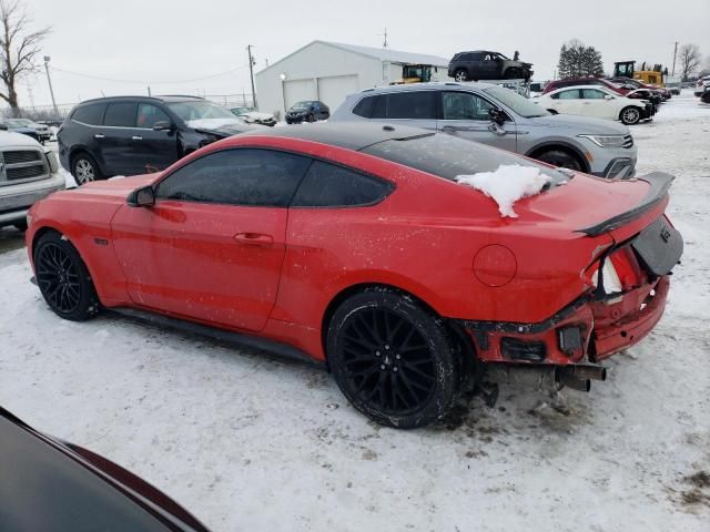
[[[114,96],[77,105],[57,133],[59,156],[79,185],[145,174],[253,126],[194,96]]]

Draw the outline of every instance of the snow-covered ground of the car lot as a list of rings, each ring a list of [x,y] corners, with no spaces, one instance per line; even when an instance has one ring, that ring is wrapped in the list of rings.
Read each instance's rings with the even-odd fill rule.
[[[686,252],[660,325],[589,395],[504,388],[495,409],[381,428],[317,369],[108,314],[63,321],[18,249],[0,255],[0,405],[214,531],[707,531],[710,106],[684,93],[632,132],[639,173],[678,176]]]

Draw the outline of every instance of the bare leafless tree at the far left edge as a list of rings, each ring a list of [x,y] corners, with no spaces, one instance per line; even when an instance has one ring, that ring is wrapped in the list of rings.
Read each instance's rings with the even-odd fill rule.
[[[34,58],[50,28],[32,31],[32,20],[20,0],[0,0],[0,98],[18,114],[17,83],[37,70]],[[3,90],[4,89],[4,90]]]

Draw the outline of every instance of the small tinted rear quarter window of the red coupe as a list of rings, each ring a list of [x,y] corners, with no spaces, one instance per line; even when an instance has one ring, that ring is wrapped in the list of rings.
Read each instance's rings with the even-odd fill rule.
[[[355,207],[373,205],[394,188],[392,183],[314,161],[301,182],[292,207]]]

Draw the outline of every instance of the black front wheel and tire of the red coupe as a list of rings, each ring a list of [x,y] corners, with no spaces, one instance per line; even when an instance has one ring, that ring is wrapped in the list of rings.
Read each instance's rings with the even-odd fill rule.
[[[34,248],[37,284],[59,317],[84,321],[99,311],[99,298],[87,265],[69,241],[51,232]]]

